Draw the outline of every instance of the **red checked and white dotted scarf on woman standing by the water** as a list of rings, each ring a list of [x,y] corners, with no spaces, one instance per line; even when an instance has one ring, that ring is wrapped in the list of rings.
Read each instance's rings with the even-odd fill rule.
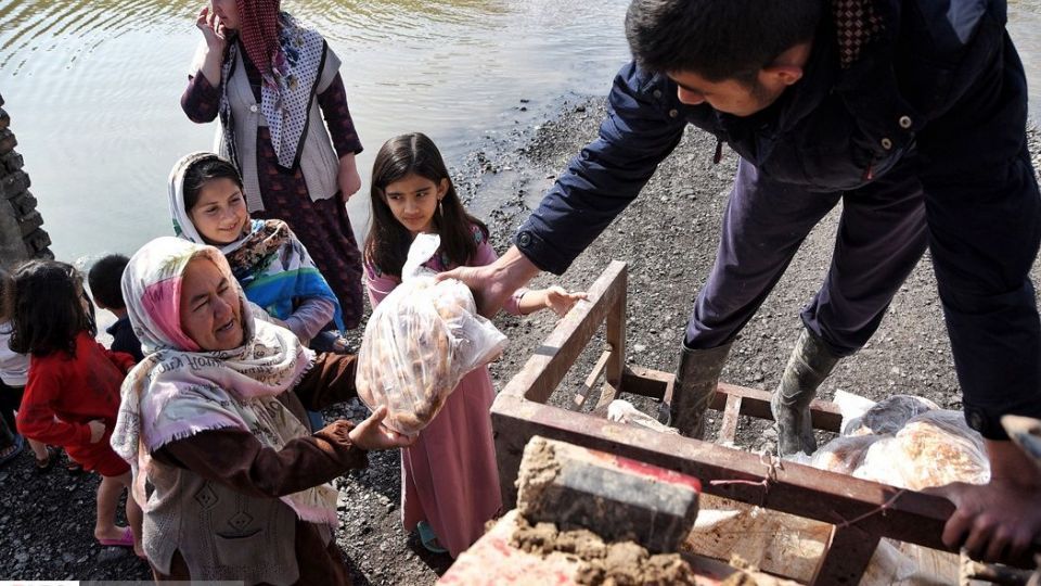
[[[268,123],[271,144],[279,165],[292,169],[303,151],[308,112],[324,63],[325,39],[298,25],[288,13],[280,12],[279,0],[235,0],[235,4],[242,46],[264,79],[260,112]],[[221,72],[224,84],[219,112],[224,144],[231,160],[237,162],[227,81],[239,49],[231,43],[228,50]]]

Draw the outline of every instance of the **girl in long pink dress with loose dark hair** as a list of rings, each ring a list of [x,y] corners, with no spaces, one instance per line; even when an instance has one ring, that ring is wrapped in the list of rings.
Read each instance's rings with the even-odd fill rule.
[[[463,208],[437,146],[421,133],[388,140],[372,170],[372,226],[364,247],[365,289],[373,307],[400,282],[416,234],[437,233],[441,247],[426,267],[444,271],[493,262],[488,228]],[[560,286],[518,290],[504,309],[565,315],[584,293]],[[459,556],[502,507],[489,410],[487,367],[466,374],[416,442],[401,450],[401,515],[423,545]]]

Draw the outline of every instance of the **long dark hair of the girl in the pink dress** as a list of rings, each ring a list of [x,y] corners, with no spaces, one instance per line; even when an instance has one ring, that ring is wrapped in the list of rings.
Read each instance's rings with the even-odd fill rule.
[[[488,227],[463,208],[448,167],[434,141],[420,132],[394,137],[383,144],[372,166],[372,218],[365,239],[365,260],[384,275],[401,276],[401,267],[412,244],[412,234],[394,217],[387,205],[386,189],[395,181],[417,175],[440,184],[448,180],[448,191],[441,199],[440,211],[434,213],[434,231],[441,237],[440,252],[452,265],[464,265],[477,252],[473,226],[485,238]]]

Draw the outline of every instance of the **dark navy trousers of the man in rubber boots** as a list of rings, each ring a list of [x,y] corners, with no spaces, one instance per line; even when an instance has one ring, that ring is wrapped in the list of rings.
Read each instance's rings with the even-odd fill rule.
[[[746,161],[737,166],[716,263],[687,323],[687,347],[733,340],[810,230],[840,200],[832,265],[802,321],[838,356],[860,349],[925,252],[921,183],[913,174],[894,169],[856,191],[817,193],[772,181]]]

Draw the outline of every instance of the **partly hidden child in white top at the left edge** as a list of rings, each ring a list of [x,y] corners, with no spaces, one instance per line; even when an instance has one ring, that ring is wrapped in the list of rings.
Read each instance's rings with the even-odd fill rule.
[[[14,315],[14,279],[0,267],[0,463],[22,453],[25,438],[17,433],[14,413],[22,408],[22,394],[29,374],[29,357],[11,349],[9,341]],[[54,464],[57,450],[29,440],[36,456],[36,470],[46,472]]]

